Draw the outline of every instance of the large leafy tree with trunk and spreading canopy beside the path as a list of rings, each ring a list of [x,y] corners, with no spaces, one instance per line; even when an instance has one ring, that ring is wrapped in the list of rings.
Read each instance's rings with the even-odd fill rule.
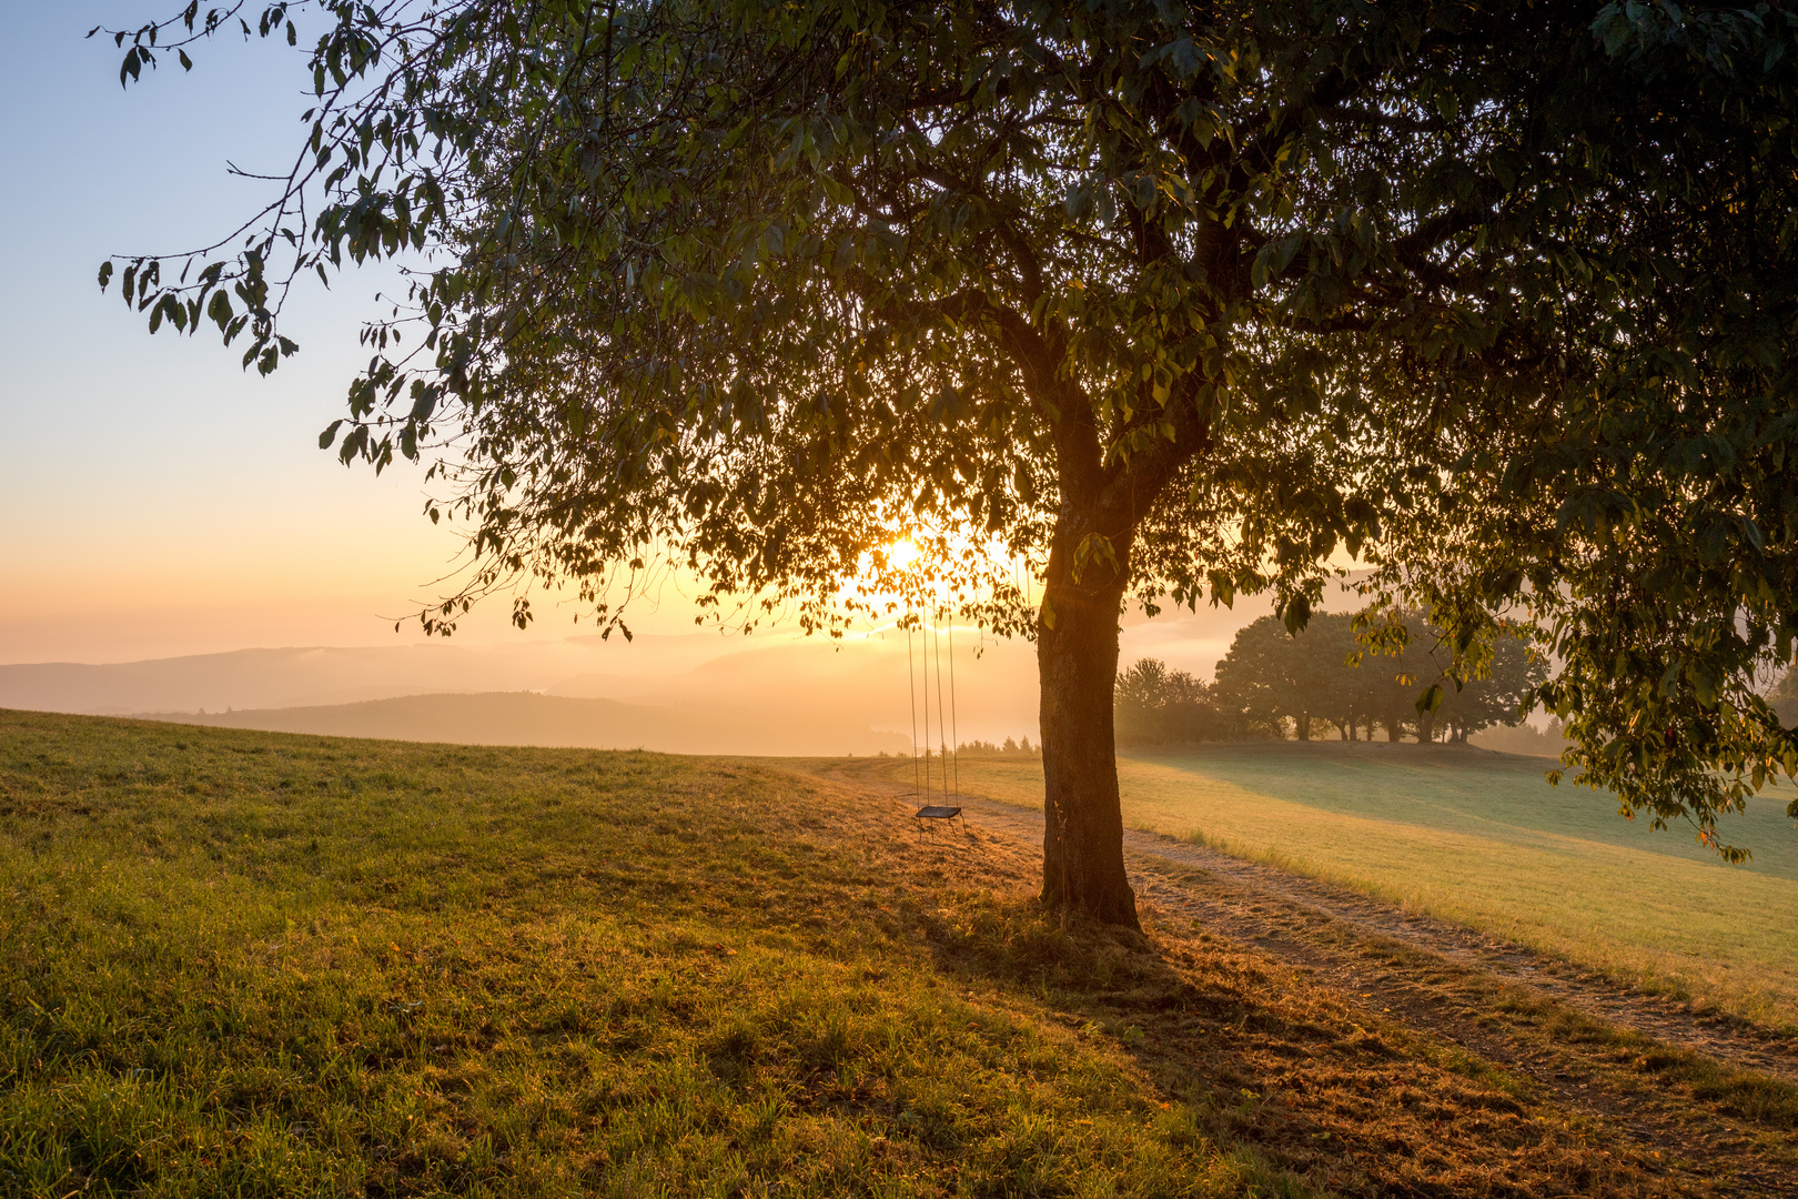
[[[1127,597],[1298,629],[1338,548],[1458,662],[1539,631],[1582,778],[1708,836],[1798,769],[1751,688],[1798,631],[1794,22],[194,4],[120,79],[304,41],[307,138],[241,248],[120,282],[271,370],[297,275],[428,253],[322,442],[451,489],[476,568],[430,627],[534,577],[610,629],[663,559],[807,629],[948,579],[1036,636],[1052,904],[1135,924]]]

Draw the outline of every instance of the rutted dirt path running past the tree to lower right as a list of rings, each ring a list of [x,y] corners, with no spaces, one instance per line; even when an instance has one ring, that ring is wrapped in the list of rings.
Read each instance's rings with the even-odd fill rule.
[[[845,764],[822,773],[908,791]],[[1041,845],[1041,813],[960,802],[976,830]],[[1474,1053],[1539,1100],[1616,1129],[1674,1177],[1726,1167],[1742,1194],[1798,1197],[1798,1136],[1773,1111],[1791,1091],[1755,1079],[1798,1084],[1798,1039],[1187,841],[1126,830],[1124,848],[1149,931],[1251,946],[1370,1017]]]

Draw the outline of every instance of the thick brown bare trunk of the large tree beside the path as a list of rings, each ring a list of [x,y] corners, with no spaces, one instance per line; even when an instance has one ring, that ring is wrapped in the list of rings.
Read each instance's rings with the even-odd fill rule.
[[[1136,895],[1124,875],[1111,728],[1124,570],[1095,563],[1075,582],[1072,554],[1061,548],[1050,554],[1036,642],[1043,681],[1043,902],[1140,929]]]

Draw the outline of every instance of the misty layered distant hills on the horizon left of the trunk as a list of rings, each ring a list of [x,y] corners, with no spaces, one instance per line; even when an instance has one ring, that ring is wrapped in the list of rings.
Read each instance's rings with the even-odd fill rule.
[[[978,656],[976,656],[978,653]],[[957,737],[1036,741],[1036,658],[1027,642],[966,642],[957,645]],[[680,746],[694,753],[739,753],[750,744],[807,746],[807,753],[863,753],[870,730],[906,730],[913,721],[913,671],[903,636],[832,642],[793,636],[566,636],[503,644],[426,642],[370,647],[241,649],[120,663],[41,662],[0,665],[0,708],[76,712],[85,715],[151,715],[214,723],[252,719],[255,728],[291,728],[293,715],[241,717],[234,710],[345,708],[320,732],[354,737],[433,737],[494,741],[487,715],[435,712],[432,719],[388,728],[361,721],[397,721],[388,708],[360,706],[370,699],[460,696],[450,701],[466,712],[467,696],[536,692],[563,699],[608,699],[608,721],[617,741],[601,728],[599,708],[568,708],[554,739],[529,724],[505,733],[505,744]],[[935,676],[931,676],[935,678]],[[476,705],[478,706],[478,705]],[[491,706],[491,705],[489,705]],[[653,715],[628,717],[628,710]],[[680,712],[681,717],[671,717]],[[173,715],[171,714],[180,714]],[[439,721],[439,717],[442,717]],[[349,723],[338,723],[349,721]],[[557,717],[561,719],[561,717]],[[280,721],[280,723],[275,723]],[[405,732],[394,732],[405,728]],[[694,728],[710,730],[705,737]],[[806,730],[825,730],[811,735]],[[719,741],[719,737],[723,741]],[[906,737],[904,744],[910,744]],[[789,750],[779,750],[786,753]],[[793,750],[797,751],[797,750]]]

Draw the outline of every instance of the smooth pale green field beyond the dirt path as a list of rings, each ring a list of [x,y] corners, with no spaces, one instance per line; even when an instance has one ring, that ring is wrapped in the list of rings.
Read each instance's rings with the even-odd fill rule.
[[[1411,744],[1273,742],[1120,759],[1129,825],[1347,883],[1643,985],[1798,1026],[1798,830],[1787,793],[1724,834],[1651,832],[1548,762]],[[892,773],[910,778],[908,764]],[[1041,807],[1034,760],[964,759],[962,789]]]

